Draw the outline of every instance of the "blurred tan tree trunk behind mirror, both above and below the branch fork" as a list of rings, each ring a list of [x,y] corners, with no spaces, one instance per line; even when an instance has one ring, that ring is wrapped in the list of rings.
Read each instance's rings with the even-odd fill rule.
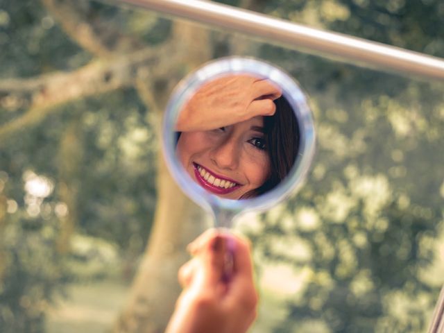
[[[173,85],[186,72],[210,59],[212,53],[208,30],[188,22],[174,22],[170,43],[177,48],[175,52],[164,53],[156,67],[140,68],[136,81],[142,101],[151,108],[150,111],[155,110],[149,114],[157,135],[160,134],[161,112]],[[128,303],[112,332],[164,332],[178,296],[176,278],[171,277],[184,262],[184,244],[203,230],[205,225],[203,211],[191,204],[185,196],[178,194],[177,185],[169,176],[161,156],[157,159],[156,180],[157,206],[149,246],[137,270]],[[175,194],[175,210],[171,210],[171,200],[168,199],[172,198],[171,194]],[[178,232],[171,237],[171,230]],[[166,239],[173,248],[171,253],[162,249]],[[161,270],[156,268],[160,262]]]

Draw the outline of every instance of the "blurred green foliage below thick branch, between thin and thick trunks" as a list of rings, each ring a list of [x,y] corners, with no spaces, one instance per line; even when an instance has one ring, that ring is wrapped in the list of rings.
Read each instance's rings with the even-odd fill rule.
[[[139,253],[155,206],[156,141],[134,91],[83,105],[79,227]],[[122,110],[125,110],[122,112]]]

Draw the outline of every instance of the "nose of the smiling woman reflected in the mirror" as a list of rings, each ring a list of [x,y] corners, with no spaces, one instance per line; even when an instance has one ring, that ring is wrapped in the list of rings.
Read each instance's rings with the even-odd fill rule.
[[[210,153],[210,158],[220,169],[235,170],[239,165],[239,144],[234,137],[226,137],[218,142]]]

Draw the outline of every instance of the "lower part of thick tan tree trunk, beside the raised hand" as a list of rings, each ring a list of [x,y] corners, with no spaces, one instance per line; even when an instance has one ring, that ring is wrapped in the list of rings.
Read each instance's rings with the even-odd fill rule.
[[[164,332],[180,293],[177,272],[188,259],[185,247],[208,225],[207,214],[182,194],[161,156],[158,161],[153,230],[114,332]]]

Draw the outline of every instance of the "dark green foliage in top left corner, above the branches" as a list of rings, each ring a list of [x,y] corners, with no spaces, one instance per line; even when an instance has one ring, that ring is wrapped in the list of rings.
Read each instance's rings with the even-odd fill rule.
[[[66,37],[39,1],[0,1],[0,77],[72,70],[91,58]]]

